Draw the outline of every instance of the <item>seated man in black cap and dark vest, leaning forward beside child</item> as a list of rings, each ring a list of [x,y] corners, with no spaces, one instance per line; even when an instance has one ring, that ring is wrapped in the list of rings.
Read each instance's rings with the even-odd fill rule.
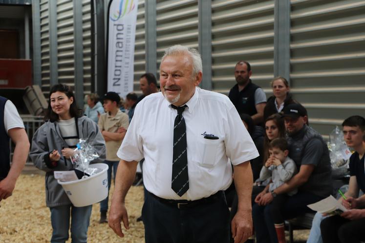
[[[305,212],[311,212],[308,204],[316,203],[332,192],[331,164],[327,144],[322,136],[309,127],[306,109],[298,103],[289,104],[282,115],[289,144],[289,157],[299,169],[298,174],[273,191],[266,193],[265,207],[253,207],[253,220],[257,242],[277,242],[274,222],[271,217],[271,202],[276,195],[298,188],[298,193],[285,203],[282,212],[285,219],[295,218]]]

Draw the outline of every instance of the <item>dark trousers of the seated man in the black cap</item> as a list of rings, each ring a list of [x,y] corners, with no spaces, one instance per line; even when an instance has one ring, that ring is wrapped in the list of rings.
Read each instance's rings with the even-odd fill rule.
[[[283,205],[284,219],[292,219],[306,212],[313,212],[308,204],[316,203],[322,200],[321,197],[309,192],[298,192],[288,197]],[[272,219],[272,203],[266,206],[252,205],[252,218],[255,227],[255,235],[257,243],[277,243],[274,221]]]

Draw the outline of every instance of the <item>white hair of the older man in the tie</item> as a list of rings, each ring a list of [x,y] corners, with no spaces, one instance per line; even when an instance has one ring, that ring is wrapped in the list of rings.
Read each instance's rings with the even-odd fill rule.
[[[173,56],[173,55],[179,55],[179,54],[189,54],[191,61],[193,62],[193,71],[192,71],[192,75],[195,76],[197,75],[199,72],[203,72],[203,65],[201,62],[201,57],[199,52],[191,47],[187,47],[184,45],[173,45],[170,46],[169,48],[167,48],[165,50],[165,54],[161,59],[161,63],[164,61],[164,59],[167,56]]]

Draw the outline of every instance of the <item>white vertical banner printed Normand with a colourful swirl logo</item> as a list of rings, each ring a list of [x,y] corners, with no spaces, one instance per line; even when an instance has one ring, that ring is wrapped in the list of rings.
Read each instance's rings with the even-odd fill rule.
[[[138,0],[109,3],[107,91],[121,97],[133,91],[134,41]]]

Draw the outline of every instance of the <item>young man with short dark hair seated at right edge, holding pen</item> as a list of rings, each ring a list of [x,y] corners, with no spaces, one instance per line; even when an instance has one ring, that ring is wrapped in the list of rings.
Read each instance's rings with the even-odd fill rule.
[[[341,216],[323,216],[316,213],[312,228],[309,234],[309,243],[322,242],[360,242],[365,238],[361,238],[364,227],[359,229],[359,225],[364,225],[365,211],[355,209],[365,205],[365,197],[359,196],[359,189],[365,190],[365,172],[364,172],[364,154],[365,154],[365,119],[361,116],[351,116],[342,123],[344,131],[344,141],[347,146],[353,148],[355,152],[350,157],[350,181],[348,183],[348,191],[344,195],[348,198],[346,201],[341,197],[339,201],[348,209]],[[351,203],[351,206],[350,204]],[[359,219],[361,222],[357,222]],[[352,221],[353,220],[353,221]],[[322,222],[322,223],[321,223]],[[321,224],[321,231],[320,229]],[[322,236],[321,236],[322,232]],[[336,232],[335,234],[333,232]],[[323,238],[323,239],[322,239]]]

